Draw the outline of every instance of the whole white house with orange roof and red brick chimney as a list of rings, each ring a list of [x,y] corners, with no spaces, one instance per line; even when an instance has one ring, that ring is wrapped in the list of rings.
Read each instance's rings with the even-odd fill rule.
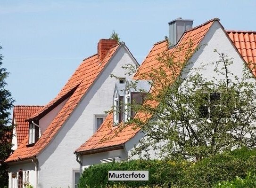
[[[34,188],[77,186],[80,165],[73,152],[106,118],[115,83],[130,78],[126,64],[138,66],[124,42],[99,40],[97,54],[84,59],[58,95],[26,119],[29,133],[6,160],[9,188],[27,182]]]

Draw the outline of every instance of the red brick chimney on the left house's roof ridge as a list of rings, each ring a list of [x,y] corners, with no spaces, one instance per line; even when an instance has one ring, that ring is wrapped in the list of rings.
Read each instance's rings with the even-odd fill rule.
[[[98,59],[102,62],[109,50],[117,44],[115,39],[100,39],[98,42]]]

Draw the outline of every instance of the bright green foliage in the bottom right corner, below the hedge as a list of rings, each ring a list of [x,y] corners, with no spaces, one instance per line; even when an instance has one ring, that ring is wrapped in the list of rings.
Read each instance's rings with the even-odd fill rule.
[[[236,177],[235,180],[222,181],[214,188],[256,188],[256,175],[248,173],[245,179]]]

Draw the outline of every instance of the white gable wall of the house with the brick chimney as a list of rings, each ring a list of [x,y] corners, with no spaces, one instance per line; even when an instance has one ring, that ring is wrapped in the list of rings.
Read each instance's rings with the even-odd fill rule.
[[[127,63],[135,64],[121,46],[50,145],[38,155],[40,188],[72,188],[72,169],[79,169],[74,150],[93,134],[94,115],[111,108],[116,78],[110,74],[127,77],[121,68]]]

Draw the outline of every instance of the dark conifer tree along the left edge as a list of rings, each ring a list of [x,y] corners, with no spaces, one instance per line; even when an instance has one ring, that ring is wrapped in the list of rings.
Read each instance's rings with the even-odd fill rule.
[[[0,46],[0,49],[2,47]],[[5,89],[7,83],[5,79],[9,73],[6,72],[5,68],[2,68],[3,56],[0,54],[0,187],[8,187],[8,165],[4,161],[11,154],[11,140],[12,140],[12,129],[13,125],[10,123],[10,112],[13,107],[13,98],[11,93]]]

